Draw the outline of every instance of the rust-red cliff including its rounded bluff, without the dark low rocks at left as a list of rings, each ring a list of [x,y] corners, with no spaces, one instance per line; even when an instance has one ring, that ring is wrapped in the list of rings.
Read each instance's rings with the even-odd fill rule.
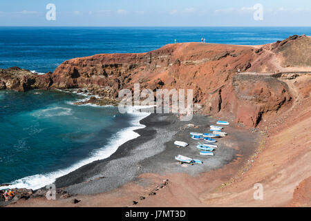
[[[263,115],[276,113],[291,100],[286,85],[272,78],[234,77],[265,56],[263,48],[221,44],[170,44],[141,54],[94,55],[65,61],[53,73],[55,88],[122,88],[156,91],[160,88],[194,90],[194,103],[206,113],[233,116],[256,126]]]

